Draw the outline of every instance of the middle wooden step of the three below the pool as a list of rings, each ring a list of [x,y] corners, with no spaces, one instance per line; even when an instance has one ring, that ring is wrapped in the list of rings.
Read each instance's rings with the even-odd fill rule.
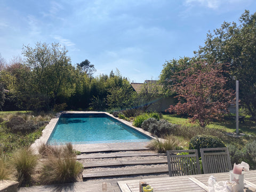
[[[124,166],[124,165],[143,165],[143,164],[163,164],[167,163],[167,158],[164,159],[145,159],[141,161],[111,161],[111,162],[95,162],[83,163],[84,168],[88,167],[103,167],[103,166]]]

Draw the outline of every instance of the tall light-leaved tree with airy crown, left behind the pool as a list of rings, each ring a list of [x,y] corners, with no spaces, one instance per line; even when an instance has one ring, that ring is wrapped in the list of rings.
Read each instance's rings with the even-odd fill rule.
[[[35,48],[23,46],[22,54],[25,55],[26,65],[33,73],[31,95],[39,94],[50,98],[53,106],[58,96],[70,96],[74,92],[74,68],[67,52],[66,47],[59,43],[49,45],[37,42]]]

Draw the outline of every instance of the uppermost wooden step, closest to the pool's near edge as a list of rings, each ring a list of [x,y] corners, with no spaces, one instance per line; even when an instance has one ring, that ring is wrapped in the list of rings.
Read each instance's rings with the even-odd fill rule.
[[[107,154],[82,154],[77,155],[76,159],[86,159],[86,158],[115,158],[115,157],[133,157],[133,156],[157,156],[157,155],[164,155],[166,154],[159,154],[159,153],[107,153]]]

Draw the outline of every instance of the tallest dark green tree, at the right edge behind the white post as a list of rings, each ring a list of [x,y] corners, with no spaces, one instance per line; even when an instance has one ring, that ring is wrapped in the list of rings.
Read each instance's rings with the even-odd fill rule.
[[[256,13],[245,10],[239,22],[223,22],[195,53],[207,62],[230,63],[230,84],[239,81],[241,104],[256,119]]]

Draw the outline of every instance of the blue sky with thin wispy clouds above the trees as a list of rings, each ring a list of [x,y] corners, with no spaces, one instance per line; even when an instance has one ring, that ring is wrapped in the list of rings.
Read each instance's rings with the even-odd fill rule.
[[[132,82],[158,79],[166,60],[193,57],[207,32],[238,22],[254,0],[0,0],[0,54],[22,46],[61,43],[75,65],[91,61],[99,74],[120,71]]]

